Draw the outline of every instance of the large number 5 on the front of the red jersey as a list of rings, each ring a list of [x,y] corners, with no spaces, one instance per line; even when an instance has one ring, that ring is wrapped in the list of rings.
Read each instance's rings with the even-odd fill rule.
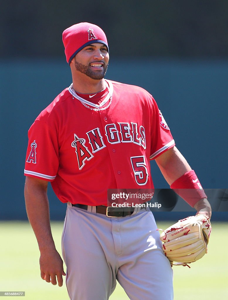
[[[131,165],[135,175],[135,181],[139,185],[145,185],[148,179],[148,171],[144,155],[131,156]]]

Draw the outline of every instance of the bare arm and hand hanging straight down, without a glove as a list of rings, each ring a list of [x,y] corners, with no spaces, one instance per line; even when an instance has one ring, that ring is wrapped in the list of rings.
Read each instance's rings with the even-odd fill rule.
[[[25,203],[29,222],[35,233],[40,250],[41,278],[53,285],[62,286],[65,275],[63,261],[55,249],[52,238],[49,202],[47,197],[48,182],[34,177],[26,177]],[[56,281],[57,276],[57,281]]]

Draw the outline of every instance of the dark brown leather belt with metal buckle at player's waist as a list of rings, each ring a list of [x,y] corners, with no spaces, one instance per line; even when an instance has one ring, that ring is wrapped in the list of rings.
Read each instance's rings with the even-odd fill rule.
[[[72,204],[72,206],[76,206],[85,210],[88,209],[88,205],[84,204]],[[140,209],[144,207],[141,207]],[[112,207],[104,205],[96,206],[96,212],[98,214],[105,214],[107,217],[126,217],[133,214],[134,210],[135,207]]]

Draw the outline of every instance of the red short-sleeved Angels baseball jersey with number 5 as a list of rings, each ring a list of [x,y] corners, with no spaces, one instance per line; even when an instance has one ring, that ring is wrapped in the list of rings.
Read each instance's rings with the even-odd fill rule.
[[[152,95],[106,82],[101,109],[69,87],[29,129],[24,174],[50,181],[61,202],[107,205],[108,189],[152,189],[150,159],[175,145]]]

